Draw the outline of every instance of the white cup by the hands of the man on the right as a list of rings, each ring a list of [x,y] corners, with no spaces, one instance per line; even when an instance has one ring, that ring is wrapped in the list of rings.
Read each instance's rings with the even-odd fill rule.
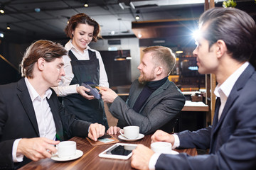
[[[171,143],[169,142],[154,142],[150,145],[151,149],[159,154],[170,154]]]

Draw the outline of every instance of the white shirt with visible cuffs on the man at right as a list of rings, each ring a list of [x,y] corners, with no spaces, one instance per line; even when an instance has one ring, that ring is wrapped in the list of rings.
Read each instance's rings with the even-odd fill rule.
[[[220,119],[221,113],[223,112],[223,109],[225,107],[225,103],[228,99],[228,96],[230,95],[231,90],[233,89],[233,86],[235,85],[235,82],[238,80],[242,72],[245,71],[246,67],[249,65],[249,62],[245,62],[242,64],[241,67],[239,67],[233,74],[226,79],[223,84],[218,84],[214,90],[214,94],[217,97],[220,97],[220,109],[218,113],[218,119]],[[176,147],[179,147],[180,145],[180,140],[178,138],[178,135],[174,134],[174,146],[172,149],[175,149]],[[159,159],[160,154],[153,154],[149,161],[149,169],[154,170],[156,166],[157,159]]]

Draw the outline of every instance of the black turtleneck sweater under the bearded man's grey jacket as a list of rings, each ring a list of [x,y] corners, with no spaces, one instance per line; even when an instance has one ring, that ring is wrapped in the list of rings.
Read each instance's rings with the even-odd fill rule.
[[[165,77],[161,80],[147,82],[144,88],[142,89],[142,92],[139,94],[139,97],[137,98],[137,101],[134,103],[134,107],[132,109],[139,113],[139,110],[142,108],[142,106],[149,98],[149,96],[153,94],[153,92],[156,91],[156,89],[159,89],[159,87],[162,86],[167,81],[167,79],[168,77]]]

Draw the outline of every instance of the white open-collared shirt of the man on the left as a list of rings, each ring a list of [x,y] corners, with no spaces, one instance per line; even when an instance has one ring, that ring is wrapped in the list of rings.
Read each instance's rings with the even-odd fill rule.
[[[55,140],[56,128],[53,120],[53,113],[50,111],[50,106],[46,98],[50,98],[52,91],[48,89],[46,94],[41,98],[33,86],[29,83],[28,79],[25,77],[26,86],[28,88],[28,93],[31,97],[33,103],[33,108],[36,113],[36,121],[38,124],[38,130],[40,137],[46,137],[50,140]],[[21,139],[15,140],[13,145],[13,160],[14,162],[22,162],[23,155],[18,155],[16,157],[18,142]]]

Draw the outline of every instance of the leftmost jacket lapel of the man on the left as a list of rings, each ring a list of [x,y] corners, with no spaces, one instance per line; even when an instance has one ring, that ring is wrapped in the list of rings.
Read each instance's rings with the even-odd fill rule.
[[[40,137],[38,124],[36,120],[36,113],[33,108],[31,97],[28,93],[28,88],[26,86],[25,79],[21,79],[20,81],[18,81],[17,89],[18,91],[20,91],[20,93],[17,94],[18,98],[20,99],[23,108],[26,111],[26,114],[28,115],[28,118],[31,121],[31,124],[33,125],[34,130],[36,131],[38,137]]]

